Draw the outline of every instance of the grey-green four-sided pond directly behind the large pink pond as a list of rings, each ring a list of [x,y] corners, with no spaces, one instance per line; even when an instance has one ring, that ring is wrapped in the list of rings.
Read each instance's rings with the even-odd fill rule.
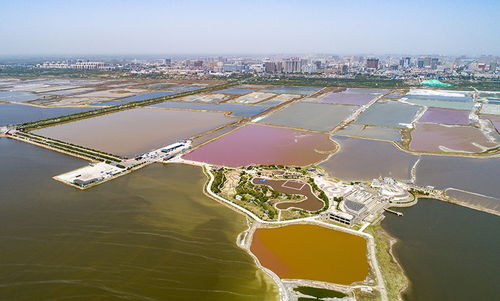
[[[316,131],[330,131],[349,117],[357,107],[296,102],[260,122]]]

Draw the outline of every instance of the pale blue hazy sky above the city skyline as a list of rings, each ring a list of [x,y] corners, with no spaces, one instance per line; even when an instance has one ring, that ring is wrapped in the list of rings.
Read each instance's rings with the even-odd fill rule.
[[[500,0],[0,0],[0,55],[493,54]]]

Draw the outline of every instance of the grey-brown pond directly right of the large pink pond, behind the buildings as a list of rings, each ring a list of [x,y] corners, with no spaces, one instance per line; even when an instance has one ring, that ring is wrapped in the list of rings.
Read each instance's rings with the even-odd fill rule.
[[[328,174],[342,180],[371,181],[378,177],[410,179],[418,156],[397,149],[392,143],[333,136],[340,150],[320,164]]]

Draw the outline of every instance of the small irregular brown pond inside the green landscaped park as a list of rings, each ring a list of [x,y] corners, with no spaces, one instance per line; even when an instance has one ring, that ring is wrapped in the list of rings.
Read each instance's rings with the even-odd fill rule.
[[[298,202],[281,202],[276,204],[278,209],[299,208],[309,211],[317,211],[325,205],[312,192],[311,185],[297,180],[269,180],[263,178],[255,178],[252,180],[254,185],[267,185],[280,193],[300,194],[306,197],[305,200]]]

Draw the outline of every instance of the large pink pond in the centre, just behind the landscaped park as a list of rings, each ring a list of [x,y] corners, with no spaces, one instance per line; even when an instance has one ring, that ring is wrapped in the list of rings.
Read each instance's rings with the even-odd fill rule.
[[[250,124],[183,158],[230,167],[252,164],[305,166],[326,159],[328,152],[336,148],[327,134]]]

